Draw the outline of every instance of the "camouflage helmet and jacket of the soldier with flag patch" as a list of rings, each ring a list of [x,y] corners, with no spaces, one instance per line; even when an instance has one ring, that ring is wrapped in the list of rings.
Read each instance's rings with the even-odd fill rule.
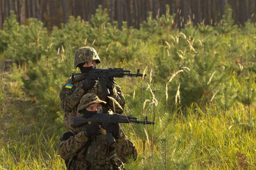
[[[79,48],[74,55],[74,68],[76,69],[79,64],[94,60],[97,63],[101,63],[100,58],[93,47],[86,46]],[[109,109],[111,109],[112,111],[121,114],[125,108],[125,97],[121,91],[121,87],[118,86],[115,80],[113,83],[113,89],[110,89],[110,97],[114,98],[122,108],[113,104],[113,101],[110,99],[104,97],[99,81],[95,88],[84,91],[82,89],[82,80],[84,78],[86,78],[86,76],[78,75],[72,81],[72,78],[70,77],[64,86],[62,86],[59,94],[59,97],[61,98],[61,108],[65,112],[64,126],[68,129],[73,129],[73,116],[76,114],[76,106],[79,104],[82,96],[86,93],[95,93],[102,101],[106,101],[108,103],[106,107],[103,108],[104,112],[108,112]]]

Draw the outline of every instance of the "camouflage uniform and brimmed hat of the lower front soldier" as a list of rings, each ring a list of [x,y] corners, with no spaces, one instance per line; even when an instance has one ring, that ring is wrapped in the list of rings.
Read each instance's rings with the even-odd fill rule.
[[[76,116],[84,116],[79,111],[93,103],[104,101],[92,93],[84,95],[78,105]],[[84,127],[75,128],[68,138],[66,133],[60,138],[59,154],[61,158],[69,160],[67,170],[122,170],[128,156],[133,156],[134,160],[137,158],[136,147],[126,139],[122,130],[116,142],[109,146],[104,129],[91,141],[82,132]]]

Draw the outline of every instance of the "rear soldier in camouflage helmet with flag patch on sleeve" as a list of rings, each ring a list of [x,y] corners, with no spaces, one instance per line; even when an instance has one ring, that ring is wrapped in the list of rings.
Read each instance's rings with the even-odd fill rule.
[[[79,48],[74,55],[74,68],[79,67],[82,73],[87,73],[91,69],[97,69],[98,63],[101,63],[101,61],[93,47],[85,46]],[[118,86],[114,78],[103,77],[103,81],[105,81],[104,83],[110,91],[110,97],[114,98],[119,105],[104,97],[99,78],[78,75],[73,81],[70,77],[62,86],[59,97],[61,98],[61,108],[65,112],[64,126],[67,129],[73,129],[73,116],[76,114],[76,107],[82,96],[87,93],[94,93],[102,101],[107,102],[102,108],[103,112],[110,112],[112,110],[115,113],[122,114],[125,108],[125,98],[121,87]]]

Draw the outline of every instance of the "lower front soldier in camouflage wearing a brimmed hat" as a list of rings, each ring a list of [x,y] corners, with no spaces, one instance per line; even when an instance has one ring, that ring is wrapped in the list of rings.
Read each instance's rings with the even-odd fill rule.
[[[76,116],[91,118],[102,113],[106,102],[93,93],[81,98]],[[101,127],[97,122],[74,128],[60,138],[59,154],[66,160],[67,170],[123,170],[128,157],[137,158],[137,149],[126,138],[118,123]],[[116,142],[108,145],[107,133],[112,133]]]

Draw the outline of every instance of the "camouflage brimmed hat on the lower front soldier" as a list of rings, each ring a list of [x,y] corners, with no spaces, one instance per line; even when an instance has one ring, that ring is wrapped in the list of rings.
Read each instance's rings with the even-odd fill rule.
[[[77,109],[78,109],[78,111],[80,111],[80,110],[85,109],[86,107],[88,107],[88,106],[90,106],[91,104],[94,104],[94,103],[106,104],[106,102],[100,100],[96,94],[87,93],[81,98],[79,106],[78,106]]]

